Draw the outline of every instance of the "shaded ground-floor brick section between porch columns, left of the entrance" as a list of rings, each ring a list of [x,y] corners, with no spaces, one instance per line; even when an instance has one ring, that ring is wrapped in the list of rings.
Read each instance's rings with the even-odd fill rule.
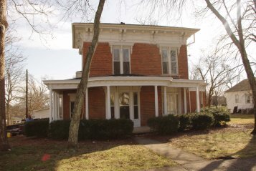
[[[105,119],[105,92],[103,87],[89,88],[89,119]]]

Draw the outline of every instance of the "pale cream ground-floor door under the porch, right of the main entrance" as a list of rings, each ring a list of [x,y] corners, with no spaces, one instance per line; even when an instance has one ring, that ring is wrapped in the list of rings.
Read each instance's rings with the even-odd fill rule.
[[[167,94],[167,112],[168,114],[178,114],[178,94]]]

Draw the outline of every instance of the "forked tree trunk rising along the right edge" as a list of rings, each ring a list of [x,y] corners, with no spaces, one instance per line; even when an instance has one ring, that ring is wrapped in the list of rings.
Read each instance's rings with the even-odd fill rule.
[[[253,112],[255,115],[255,127],[254,130],[252,131],[253,135],[256,135],[256,81],[254,74],[252,72],[252,67],[250,66],[249,59],[247,57],[247,52],[245,49],[245,40],[243,37],[243,32],[242,32],[242,22],[241,22],[241,6],[240,6],[240,0],[237,0],[237,33],[239,36],[239,39],[234,35],[234,32],[230,28],[228,22],[224,17],[219,14],[219,11],[217,11],[214,6],[212,6],[212,3],[209,0],[205,0],[207,3],[207,7],[214,13],[215,16],[219,19],[219,21],[222,21],[222,24],[224,25],[224,28],[227,31],[227,34],[229,35],[230,39],[232,39],[234,45],[237,47],[241,54],[242,58],[242,64],[245,67],[245,72],[247,74],[248,81],[250,83],[250,87],[252,89],[252,97],[253,97]]]

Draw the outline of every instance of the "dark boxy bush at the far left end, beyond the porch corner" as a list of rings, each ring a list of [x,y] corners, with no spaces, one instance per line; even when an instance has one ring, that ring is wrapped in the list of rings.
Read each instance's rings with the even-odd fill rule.
[[[25,122],[24,134],[27,137],[47,137],[49,128],[49,119],[39,119],[31,122]]]

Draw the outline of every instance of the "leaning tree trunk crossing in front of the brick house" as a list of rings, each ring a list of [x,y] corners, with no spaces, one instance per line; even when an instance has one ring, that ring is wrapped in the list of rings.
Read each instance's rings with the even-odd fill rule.
[[[104,4],[105,4],[105,0],[100,0],[98,9],[95,14],[94,26],[93,26],[93,31],[94,31],[93,41],[87,51],[86,63],[82,69],[81,82],[77,88],[74,114],[72,115],[71,122],[70,122],[70,134],[68,137],[67,147],[72,147],[72,148],[77,147],[77,136],[78,136],[78,130],[79,130],[79,124],[80,124],[80,114],[82,112],[82,104],[85,97],[85,91],[87,89],[87,82],[88,82],[89,73],[90,73],[90,64],[92,62],[95,49],[98,45],[98,38],[100,34],[100,17],[103,12]]]

